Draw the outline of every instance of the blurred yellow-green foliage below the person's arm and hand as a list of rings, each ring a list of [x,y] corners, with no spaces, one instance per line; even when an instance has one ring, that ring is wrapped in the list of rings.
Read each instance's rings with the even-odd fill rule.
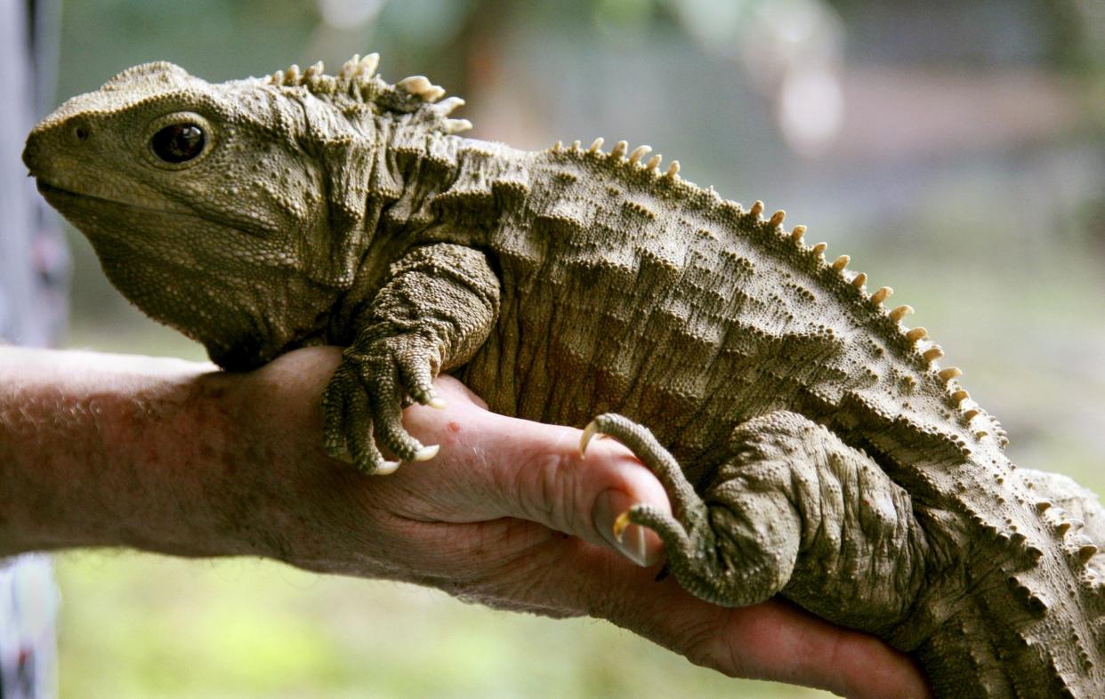
[[[72,553],[59,578],[63,697],[822,696],[735,682],[590,619],[275,563]]]

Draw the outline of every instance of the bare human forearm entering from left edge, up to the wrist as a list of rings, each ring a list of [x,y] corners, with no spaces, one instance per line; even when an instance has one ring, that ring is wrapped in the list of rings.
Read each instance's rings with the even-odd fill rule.
[[[225,416],[209,366],[0,349],[0,554],[128,546],[246,552],[212,499]],[[225,484],[223,484],[225,485]]]

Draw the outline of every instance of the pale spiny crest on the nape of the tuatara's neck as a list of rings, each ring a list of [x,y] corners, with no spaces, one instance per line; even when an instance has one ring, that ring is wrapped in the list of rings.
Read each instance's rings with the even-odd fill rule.
[[[266,85],[305,87],[314,95],[334,99],[346,98],[357,104],[370,105],[377,112],[414,114],[430,125],[435,125],[446,134],[459,134],[472,128],[467,119],[450,119],[450,114],[464,104],[460,97],[445,96],[445,91],[432,84],[424,75],[404,77],[394,85],[376,75],[380,56],[370,53],[365,57],[354,54],[345,62],[337,75],[327,75],[323,62],[301,72],[292,64],[285,71],[276,71],[262,81]]]

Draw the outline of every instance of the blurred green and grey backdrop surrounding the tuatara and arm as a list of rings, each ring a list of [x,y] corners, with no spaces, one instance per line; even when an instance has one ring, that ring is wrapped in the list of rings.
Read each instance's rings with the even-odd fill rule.
[[[71,0],[59,102],[173,61],[211,81],[378,51],[473,137],[648,142],[786,208],[917,308],[1023,466],[1105,491],[1099,0]],[[71,234],[67,345],[201,359]],[[59,557],[63,697],[813,697],[608,624],[261,561]],[[662,613],[662,611],[657,611]]]

